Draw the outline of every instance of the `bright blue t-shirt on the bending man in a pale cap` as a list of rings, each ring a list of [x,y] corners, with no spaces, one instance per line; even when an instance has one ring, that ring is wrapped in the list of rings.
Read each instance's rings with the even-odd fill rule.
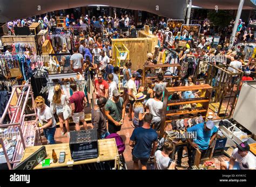
[[[205,150],[208,148],[211,137],[218,131],[217,127],[213,127],[211,131],[204,130],[204,123],[194,125],[187,129],[187,132],[196,132],[196,139],[194,142],[197,143],[200,149]]]

